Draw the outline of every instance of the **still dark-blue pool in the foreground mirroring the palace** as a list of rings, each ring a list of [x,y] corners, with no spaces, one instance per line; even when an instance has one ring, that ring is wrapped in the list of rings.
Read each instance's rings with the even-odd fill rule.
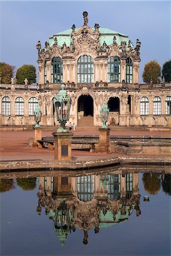
[[[170,174],[18,174],[0,188],[1,255],[171,254]]]

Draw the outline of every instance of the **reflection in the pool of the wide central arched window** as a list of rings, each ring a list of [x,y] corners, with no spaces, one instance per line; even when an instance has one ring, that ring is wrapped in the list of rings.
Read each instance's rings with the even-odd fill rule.
[[[80,176],[77,177],[77,191],[78,198],[81,201],[90,201],[93,199],[93,191],[94,191],[94,176]]]

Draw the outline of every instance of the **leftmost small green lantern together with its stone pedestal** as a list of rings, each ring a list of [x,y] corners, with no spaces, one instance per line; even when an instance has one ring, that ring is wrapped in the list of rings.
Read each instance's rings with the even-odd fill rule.
[[[35,130],[35,135],[34,135],[34,142],[32,144],[33,147],[42,147],[41,144],[37,141],[41,141],[41,126],[39,125],[39,122],[41,121],[41,110],[39,108],[39,105],[36,105],[36,108],[34,110],[34,117],[35,117],[35,122],[36,125],[34,126],[34,130]]]

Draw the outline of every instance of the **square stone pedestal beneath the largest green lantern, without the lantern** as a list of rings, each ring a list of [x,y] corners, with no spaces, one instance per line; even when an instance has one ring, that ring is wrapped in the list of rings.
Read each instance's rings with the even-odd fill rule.
[[[55,160],[71,160],[73,133],[52,133],[55,139]]]

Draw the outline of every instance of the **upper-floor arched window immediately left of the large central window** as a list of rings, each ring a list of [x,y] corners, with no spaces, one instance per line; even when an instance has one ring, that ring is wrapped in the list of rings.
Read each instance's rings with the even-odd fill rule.
[[[62,60],[60,57],[53,57],[51,62],[51,82],[58,84],[62,82]]]

